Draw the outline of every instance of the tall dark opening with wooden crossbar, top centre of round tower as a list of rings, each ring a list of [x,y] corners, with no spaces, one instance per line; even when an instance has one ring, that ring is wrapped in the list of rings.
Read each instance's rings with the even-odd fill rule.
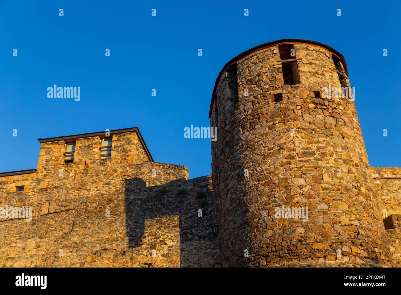
[[[279,45],[278,50],[281,60],[296,59],[294,45],[292,44]],[[298,63],[297,61],[285,61],[281,63],[284,84],[295,85],[300,83],[297,63]]]

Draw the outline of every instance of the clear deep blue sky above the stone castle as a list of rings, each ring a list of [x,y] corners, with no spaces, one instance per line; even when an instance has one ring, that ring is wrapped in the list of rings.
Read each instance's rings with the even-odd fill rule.
[[[210,126],[227,61],[284,38],[344,55],[370,164],[400,167],[399,1],[249,2],[0,0],[0,172],[36,168],[37,138],[138,126],[155,161],[207,175],[210,139],[184,127]],[[53,84],[81,87],[81,100],[47,98]]]

